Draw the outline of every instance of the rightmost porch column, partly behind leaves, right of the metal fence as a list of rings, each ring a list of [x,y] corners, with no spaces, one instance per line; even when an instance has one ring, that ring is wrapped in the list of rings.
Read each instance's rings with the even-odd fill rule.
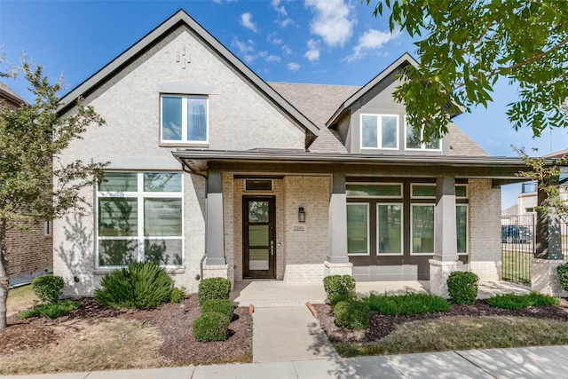
[[[558,178],[552,180],[547,185],[558,186]],[[538,187],[537,203],[541,205],[547,200],[547,194]],[[566,262],[562,254],[560,218],[556,214],[537,212],[534,233],[536,251],[531,267],[531,289],[545,295],[568,296],[556,272],[556,267]]]

